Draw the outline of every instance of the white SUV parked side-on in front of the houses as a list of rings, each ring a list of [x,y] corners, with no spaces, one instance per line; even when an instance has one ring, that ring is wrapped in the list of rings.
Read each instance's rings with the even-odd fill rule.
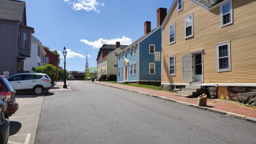
[[[45,73],[18,73],[9,77],[8,81],[17,92],[32,91],[38,95],[52,86],[50,77]]]

